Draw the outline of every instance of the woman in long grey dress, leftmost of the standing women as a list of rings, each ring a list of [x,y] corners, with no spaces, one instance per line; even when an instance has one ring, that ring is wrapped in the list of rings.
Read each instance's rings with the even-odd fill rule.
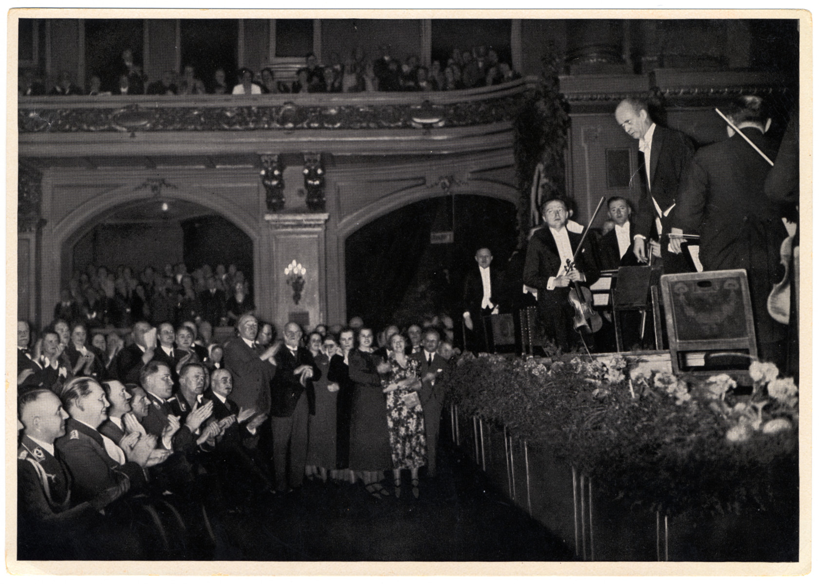
[[[321,378],[313,383],[315,390],[315,414],[307,423],[307,477],[319,477],[327,482],[327,469],[336,468],[336,400],[338,383],[328,377],[330,358],[336,354],[338,345],[333,336],[322,338],[310,333],[307,348],[313,355]]]

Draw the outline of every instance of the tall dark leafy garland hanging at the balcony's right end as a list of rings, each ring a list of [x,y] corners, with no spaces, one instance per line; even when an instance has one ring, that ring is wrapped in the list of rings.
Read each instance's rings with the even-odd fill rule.
[[[514,161],[518,176],[518,247],[526,242],[532,180],[538,164],[542,164],[541,198],[565,195],[568,141],[568,102],[559,91],[559,72],[563,57],[550,44],[541,59],[543,70],[539,86],[527,93],[514,119]]]

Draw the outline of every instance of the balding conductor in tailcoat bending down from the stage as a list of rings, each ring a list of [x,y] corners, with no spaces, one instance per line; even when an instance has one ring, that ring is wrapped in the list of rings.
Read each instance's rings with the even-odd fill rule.
[[[640,140],[640,175],[645,188],[634,219],[634,255],[640,263],[648,261],[651,251],[646,240],[657,233],[663,272],[690,272],[693,266],[686,256],[668,251],[668,233],[674,223],[682,173],[694,156],[694,143],[686,134],[654,124],[647,104],[637,99],[620,102],[614,118],[626,134]]]

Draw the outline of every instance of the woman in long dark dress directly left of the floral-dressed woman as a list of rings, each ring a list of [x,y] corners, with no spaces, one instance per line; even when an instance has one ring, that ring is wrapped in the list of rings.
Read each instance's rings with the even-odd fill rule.
[[[387,400],[381,376],[388,366],[373,354],[373,329],[362,328],[359,346],[350,353],[350,379],[355,383],[350,423],[350,468],[361,473],[364,487],[376,499],[389,496],[378,473],[392,468],[387,429]]]

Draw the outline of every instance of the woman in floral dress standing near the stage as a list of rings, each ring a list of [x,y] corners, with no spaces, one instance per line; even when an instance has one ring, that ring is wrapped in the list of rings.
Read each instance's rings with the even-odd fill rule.
[[[406,355],[406,346],[405,338],[399,333],[390,337],[387,352],[390,370],[382,378],[382,386],[387,394],[387,428],[390,431],[396,497],[401,496],[401,469],[409,469],[413,496],[417,499],[418,469],[427,464],[427,439],[418,396],[421,388],[419,362]]]

